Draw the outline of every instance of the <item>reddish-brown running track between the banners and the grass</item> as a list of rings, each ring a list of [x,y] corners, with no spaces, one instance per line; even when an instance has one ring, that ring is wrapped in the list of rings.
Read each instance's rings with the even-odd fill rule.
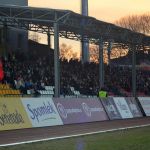
[[[0,145],[16,142],[71,136],[89,132],[99,132],[111,129],[150,125],[150,117],[94,122],[86,124],[73,124],[65,126],[53,126],[45,128],[32,128],[11,131],[0,131]]]

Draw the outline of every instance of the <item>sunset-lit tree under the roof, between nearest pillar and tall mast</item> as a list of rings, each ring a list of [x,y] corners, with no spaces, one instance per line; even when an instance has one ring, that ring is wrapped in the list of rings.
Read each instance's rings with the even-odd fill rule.
[[[60,45],[60,58],[62,60],[66,59],[66,60],[70,60],[70,59],[78,59],[78,55],[77,52],[73,52],[72,47],[65,43],[62,43]]]

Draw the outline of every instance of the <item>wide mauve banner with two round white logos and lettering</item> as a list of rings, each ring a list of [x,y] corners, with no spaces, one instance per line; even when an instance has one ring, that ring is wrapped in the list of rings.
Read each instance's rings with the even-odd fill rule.
[[[54,103],[64,124],[108,120],[99,99],[54,98]]]

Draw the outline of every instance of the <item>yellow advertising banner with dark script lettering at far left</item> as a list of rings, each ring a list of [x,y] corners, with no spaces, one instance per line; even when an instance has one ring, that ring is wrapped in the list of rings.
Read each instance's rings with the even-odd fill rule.
[[[31,127],[20,98],[0,98],[0,130]]]

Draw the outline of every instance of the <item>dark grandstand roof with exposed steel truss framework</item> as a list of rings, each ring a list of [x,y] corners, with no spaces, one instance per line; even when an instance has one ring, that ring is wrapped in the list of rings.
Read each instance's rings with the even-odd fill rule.
[[[0,5],[0,24],[53,35],[55,22],[59,24],[60,37],[68,39],[150,45],[149,36],[69,10]]]

